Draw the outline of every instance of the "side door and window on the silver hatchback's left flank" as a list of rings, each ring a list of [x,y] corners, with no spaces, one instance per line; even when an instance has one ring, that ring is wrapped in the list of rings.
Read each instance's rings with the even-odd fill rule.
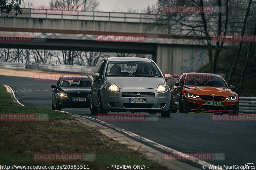
[[[93,78],[92,80],[92,100],[95,105],[98,105],[98,96],[99,96],[99,90],[102,85],[102,76],[104,72],[104,68],[106,65],[106,60],[104,60],[97,71],[97,73],[100,73],[100,78]]]

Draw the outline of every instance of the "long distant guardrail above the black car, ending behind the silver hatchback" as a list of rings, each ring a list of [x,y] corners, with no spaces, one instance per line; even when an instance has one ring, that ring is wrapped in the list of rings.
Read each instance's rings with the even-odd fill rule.
[[[28,68],[28,64],[26,64],[26,68]],[[30,63],[29,68],[47,69],[47,70],[56,70],[56,71],[71,71],[71,72],[91,72],[91,73],[95,73],[98,70],[98,67],[92,67],[92,66],[51,65],[51,64],[36,64],[36,63]]]

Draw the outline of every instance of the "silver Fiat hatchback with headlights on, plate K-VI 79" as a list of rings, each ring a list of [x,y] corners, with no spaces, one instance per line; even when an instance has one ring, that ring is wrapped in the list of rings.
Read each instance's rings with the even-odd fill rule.
[[[92,114],[130,111],[171,115],[171,93],[166,83],[171,75],[163,75],[151,59],[110,57],[92,77]]]

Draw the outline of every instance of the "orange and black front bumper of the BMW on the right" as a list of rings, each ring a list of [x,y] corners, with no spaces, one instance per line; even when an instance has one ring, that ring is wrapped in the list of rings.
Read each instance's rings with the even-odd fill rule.
[[[235,113],[238,114],[239,112],[239,99],[237,97],[236,100],[228,101],[214,101],[214,100],[207,100],[213,102],[221,102],[221,105],[206,105],[205,101],[202,100],[200,97],[193,99],[188,98],[187,96],[182,96],[183,101],[183,110],[190,111],[190,112],[207,112],[207,113]]]

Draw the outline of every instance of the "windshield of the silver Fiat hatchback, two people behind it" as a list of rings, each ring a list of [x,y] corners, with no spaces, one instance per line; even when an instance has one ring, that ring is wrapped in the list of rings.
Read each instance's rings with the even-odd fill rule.
[[[106,76],[161,77],[162,75],[152,62],[110,61]]]

